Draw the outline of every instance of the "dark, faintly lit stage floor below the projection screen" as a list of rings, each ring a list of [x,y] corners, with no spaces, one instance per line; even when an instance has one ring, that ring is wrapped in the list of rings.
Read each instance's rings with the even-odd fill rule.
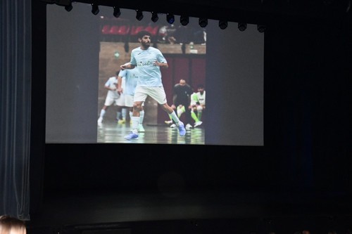
[[[46,194],[29,233],[346,233],[351,211],[346,195],[303,191],[61,191]]]

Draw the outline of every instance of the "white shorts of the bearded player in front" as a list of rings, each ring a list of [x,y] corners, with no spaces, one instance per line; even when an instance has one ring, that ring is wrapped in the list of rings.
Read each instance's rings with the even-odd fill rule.
[[[163,105],[167,103],[166,94],[163,86],[160,87],[144,87],[144,86],[137,86],[136,90],[134,91],[134,101],[142,101],[146,100],[146,97],[150,96],[157,103]]]

